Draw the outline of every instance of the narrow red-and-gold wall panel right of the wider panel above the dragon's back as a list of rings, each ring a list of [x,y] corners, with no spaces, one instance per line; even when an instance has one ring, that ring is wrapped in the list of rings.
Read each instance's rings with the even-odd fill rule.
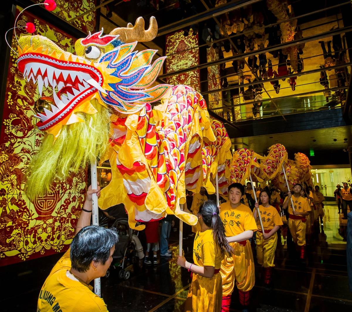
[[[219,52],[213,46],[207,48],[207,62],[219,60]],[[208,67],[208,91],[221,89],[220,65]],[[208,108],[214,109],[222,106],[222,93],[214,92],[208,95]],[[223,116],[222,110],[217,110],[217,114]]]

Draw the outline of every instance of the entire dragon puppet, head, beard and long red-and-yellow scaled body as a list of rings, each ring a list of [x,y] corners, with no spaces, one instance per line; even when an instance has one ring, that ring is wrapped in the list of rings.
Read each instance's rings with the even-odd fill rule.
[[[267,157],[247,149],[232,156],[224,125],[209,117],[200,93],[189,86],[154,83],[165,57],[153,61],[156,50],[134,48],[156,34],[154,17],[148,30],[138,18],[134,26],[77,40],[77,55],[46,37],[20,37],[19,71],[38,85],[40,95],[43,87],[53,91],[51,109],[35,116],[46,135],[30,166],[30,198],[98,157],[112,167],[101,209],[124,203],[136,229],[143,228],[137,221],[158,220],[166,213],[194,225],[197,217],[180,209],[186,189],[206,186],[214,193],[216,174],[221,194],[228,183],[243,183],[250,170],[256,181],[277,176],[287,162],[282,145],[273,145]],[[308,178],[309,163],[302,155],[296,169]]]

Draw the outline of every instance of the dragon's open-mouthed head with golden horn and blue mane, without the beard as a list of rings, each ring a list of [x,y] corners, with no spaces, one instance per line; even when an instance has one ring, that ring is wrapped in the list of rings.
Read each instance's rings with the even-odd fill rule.
[[[40,35],[20,37],[19,71],[38,85],[39,96],[43,87],[52,89],[51,110],[45,108],[36,115],[38,129],[56,137],[63,125],[84,122],[77,112],[94,114],[94,99],[124,114],[158,100],[168,85],[148,87],[165,57],[151,63],[157,50],[133,51],[138,41],[150,41],[156,34],[154,17],[148,30],[143,18],[138,18],[134,26],[115,28],[108,35],[101,30],[78,39],[76,55]]]

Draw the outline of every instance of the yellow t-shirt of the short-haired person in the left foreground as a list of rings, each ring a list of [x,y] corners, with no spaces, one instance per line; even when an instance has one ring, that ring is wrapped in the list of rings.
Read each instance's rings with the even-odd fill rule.
[[[39,293],[38,312],[107,312],[104,300],[92,292],[92,286],[66,276],[71,269],[70,249],[65,252],[46,278]]]

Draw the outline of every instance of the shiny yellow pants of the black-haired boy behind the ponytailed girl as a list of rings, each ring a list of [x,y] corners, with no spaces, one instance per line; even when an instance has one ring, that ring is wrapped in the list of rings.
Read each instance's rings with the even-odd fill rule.
[[[236,286],[238,290],[250,291],[254,286],[254,260],[251,244],[247,240],[246,246],[237,242],[230,243],[233,253],[225,255],[221,262],[222,296],[228,296]]]

